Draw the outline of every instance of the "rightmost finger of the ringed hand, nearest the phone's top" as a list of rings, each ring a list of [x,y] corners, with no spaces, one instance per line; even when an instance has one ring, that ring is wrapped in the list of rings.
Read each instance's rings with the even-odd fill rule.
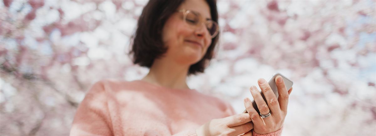
[[[282,79],[282,76],[276,77],[276,85],[278,88],[278,102],[280,106],[280,110],[286,112],[287,111],[287,104],[288,104],[288,92],[285,86],[285,82]]]

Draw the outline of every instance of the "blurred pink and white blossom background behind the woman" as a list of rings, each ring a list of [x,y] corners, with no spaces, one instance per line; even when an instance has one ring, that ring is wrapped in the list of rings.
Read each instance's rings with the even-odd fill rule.
[[[0,135],[67,136],[88,88],[148,69],[127,52],[147,1],[0,0]],[[218,0],[220,42],[188,85],[237,113],[258,78],[294,81],[283,136],[376,135],[374,0]]]

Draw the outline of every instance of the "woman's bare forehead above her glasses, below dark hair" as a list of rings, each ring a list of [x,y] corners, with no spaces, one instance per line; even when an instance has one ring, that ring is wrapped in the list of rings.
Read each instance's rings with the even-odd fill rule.
[[[204,18],[211,19],[210,8],[205,0],[185,0],[178,9],[192,10],[200,13],[200,15]]]

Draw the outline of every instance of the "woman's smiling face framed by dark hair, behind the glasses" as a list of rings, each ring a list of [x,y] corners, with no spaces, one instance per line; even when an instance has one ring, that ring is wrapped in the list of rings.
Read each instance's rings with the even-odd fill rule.
[[[204,0],[185,0],[177,8],[180,9],[199,13],[201,20],[211,19],[209,5]],[[168,47],[164,57],[179,64],[191,65],[202,59],[212,39],[204,23],[190,27],[182,18],[183,12],[175,12],[164,24],[162,41]]]

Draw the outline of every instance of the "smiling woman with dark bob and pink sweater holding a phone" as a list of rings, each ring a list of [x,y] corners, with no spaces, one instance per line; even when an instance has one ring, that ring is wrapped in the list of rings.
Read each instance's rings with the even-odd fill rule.
[[[268,104],[251,87],[261,114],[272,113],[264,119],[248,98],[244,99],[248,113],[235,115],[228,103],[187,86],[186,77],[203,72],[212,58],[217,20],[215,0],[149,1],[130,53],[135,64],[150,72],[141,80],[94,84],[77,109],[70,135],[279,136],[291,92],[283,81],[277,82],[277,101],[265,80],[259,79]]]

